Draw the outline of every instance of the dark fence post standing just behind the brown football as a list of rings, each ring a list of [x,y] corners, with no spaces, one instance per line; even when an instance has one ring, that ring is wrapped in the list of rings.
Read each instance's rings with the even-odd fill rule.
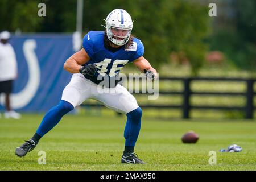
[[[189,118],[189,111],[191,109],[189,98],[191,95],[190,89],[191,78],[184,79],[184,92],[183,92],[183,119]]]

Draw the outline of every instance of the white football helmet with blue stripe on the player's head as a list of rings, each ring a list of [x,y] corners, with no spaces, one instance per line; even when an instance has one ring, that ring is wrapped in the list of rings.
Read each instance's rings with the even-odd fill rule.
[[[105,19],[108,39],[118,46],[125,45],[133,29],[133,20],[127,11],[115,9]]]

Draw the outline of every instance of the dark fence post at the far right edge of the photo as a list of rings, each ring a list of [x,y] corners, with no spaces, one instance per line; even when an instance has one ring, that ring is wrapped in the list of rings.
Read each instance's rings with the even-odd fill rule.
[[[246,107],[245,107],[245,118],[246,119],[253,119],[253,84],[254,80],[247,80],[247,93],[246,93]]]

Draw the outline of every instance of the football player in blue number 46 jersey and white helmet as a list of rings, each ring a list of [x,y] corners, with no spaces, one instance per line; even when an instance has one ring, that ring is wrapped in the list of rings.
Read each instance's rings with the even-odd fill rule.
[[[154,80],[157,72],[143,57],[144,47],[141,40],[131,36],[133,20],[123,9],[115,9],[106,17],[105,31],[90,31],[84,36],[82,49],[64,63],[64,69],[73,73],[71,81],[63,90],[59,105],[44,116],[34,136],[16,148],[17,156],[24,156],[33,150],[49,130],[63,115],[79,106],[88,98],[101,101],[106,107],[127,115],[124,131],[125,149],[122,163],[140,163],[134,153],[134,146],[141,129],[142,110],[134,96],[118,84],[118,73],[132,62],[149,80]],[[99,84],[114,93],[98,92]]]

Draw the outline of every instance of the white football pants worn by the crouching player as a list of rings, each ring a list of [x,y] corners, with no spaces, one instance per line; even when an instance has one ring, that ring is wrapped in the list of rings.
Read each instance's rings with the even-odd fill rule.
[[[134,96],[122,85],[117,84],[115,88],[102,88],[86,79],[81,73],[73,74],[71,81],[63,90],[61,100],[76,107],[88,98],[100,101],[109,109],[124,114],[139,107]]]

